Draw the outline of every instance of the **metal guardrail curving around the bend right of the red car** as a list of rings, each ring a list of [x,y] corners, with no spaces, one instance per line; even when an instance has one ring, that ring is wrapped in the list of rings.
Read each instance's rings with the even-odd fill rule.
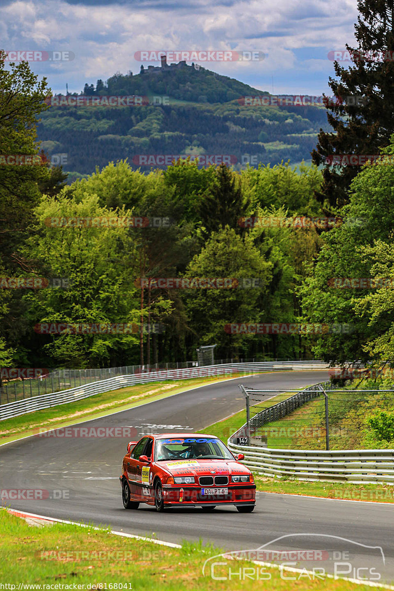
[[[271,408],[266,408],[253,417],[249,424],[256,418],[258,426],[262,426],[271,420],[269,411],[276,407],[276,413],[281,418],[285,416],[286,403],[294,399],[294,409],[307,402],[308,396],[321,395],[327,382],[305,388],[299,394],[305,394],[305,398],[295,394]],[[332,386],[331,386],[332,387]],[[296,401],[296,397],[297,401]],[[301,404],[298,404],[301,400]],[[295,405],[298,404],[298,407]],[[288,408],[292,408],[291,407]],[[293,410],[294,410],[293,409]],[[288,412],[292,412],[289,410]],[[283,414],[284,413],[284,414]],[[275,420],[275,418],[273,419]],[[330,482],[350,483],[381,483],[394,484],[394,450],[388,449],[357,449],[357,450],[294,450],[272,449],[268,447],[239,445],[234,443],[237,437],[248,437],[248,424],[240,427],[227,441],[227,446],[233,453],[243,453],[243,463],[253,470],[265,476],[288,476],[298,480],[328,480]]]

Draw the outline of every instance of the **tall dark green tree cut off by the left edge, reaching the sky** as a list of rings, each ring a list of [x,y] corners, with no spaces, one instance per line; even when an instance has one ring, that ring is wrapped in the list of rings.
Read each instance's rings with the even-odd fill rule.
[[[46,79],[38,81],[27,61],[5,64],[6,54],[0,51],[0,158],[10,155],[37,155],[36,124],[38,115],[47,106],[50,93]],[[0,271],[17,275],[29,268],[19,246],[29,233],[32,210],[40,198],[38,182],[48,177],[48,170],[35,164],[0,165]],[[19,291],[19,293],[18,293]],[[0,365],[18,359],[17,345],[23,332],[23,311],[20,290],[0,290]],[[20,359],[20,358],[19,358]]]

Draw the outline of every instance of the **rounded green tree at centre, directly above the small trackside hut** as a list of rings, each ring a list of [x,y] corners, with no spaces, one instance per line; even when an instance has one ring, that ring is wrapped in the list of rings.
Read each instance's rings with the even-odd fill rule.
[[[249,236],[242,238],[234,228],[211,234],[200,254],[188,265],[185,277],[260,278],[258,288],[190,289],[181,297],[188,314],[188,328],[194,345],[216,343],[216,355],[237,356],[253,335],[230,335],[229,323],[259,322],[264,316],[264,298],[271,277],[271,262],[265,261]]]

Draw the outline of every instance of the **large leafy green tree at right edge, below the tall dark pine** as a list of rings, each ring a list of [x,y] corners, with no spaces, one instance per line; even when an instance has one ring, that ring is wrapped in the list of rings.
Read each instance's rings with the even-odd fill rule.
[[[383,153],[392,157],[394,145]],[[390,290],[351,287],[349,281],[341,280],[382,278],[381,272],[392,276],[393,186],[392,164],[363,167],[351,183],[350,202],[342,211],[343,225],[324,234],[313,274],[301,289],[305,319],[353,325],[351,333],[318,339],[314,351],[322,359],[366,362],[373,355],[379,361],[389,353],[385,345],[390,342]]]

